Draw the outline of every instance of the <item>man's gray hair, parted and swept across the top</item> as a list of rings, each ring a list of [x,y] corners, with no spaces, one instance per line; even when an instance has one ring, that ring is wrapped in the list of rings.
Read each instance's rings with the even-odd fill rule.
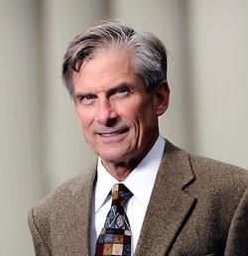
[[[117,21],[105,21],[77,35],[69,44],[62,63],[62,79],[70,96],[74,97],[72,75],[81,65],[94,58],[97,50],[119,47],[136,55],[136,72],[148,89],[167,80],[167,50],[152,33],[136,32]]]

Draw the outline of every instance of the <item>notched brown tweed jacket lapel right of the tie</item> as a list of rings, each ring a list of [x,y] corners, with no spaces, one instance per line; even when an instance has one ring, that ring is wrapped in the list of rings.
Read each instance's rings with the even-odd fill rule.
[[[166,144],[135,255],[168,255],[196,199],[184,192],[194,180],[186,152]]]

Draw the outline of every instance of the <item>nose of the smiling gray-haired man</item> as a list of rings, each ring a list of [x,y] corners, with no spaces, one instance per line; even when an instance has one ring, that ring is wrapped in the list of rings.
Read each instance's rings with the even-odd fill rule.
[[[106,97],[99,98],[95,120],[102,125],[112,126],[117,120],[117,117],[118,114],[115,110],[114,104]]]

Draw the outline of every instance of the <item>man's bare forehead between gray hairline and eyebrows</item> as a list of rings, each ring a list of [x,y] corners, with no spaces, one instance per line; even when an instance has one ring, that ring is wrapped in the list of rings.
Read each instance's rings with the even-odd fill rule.
[[[138,76],[134,63],[135,54],[131,51],[98,50],[92,59],[81,65],[79,72],[74,72],[74,88],[131,82]]]

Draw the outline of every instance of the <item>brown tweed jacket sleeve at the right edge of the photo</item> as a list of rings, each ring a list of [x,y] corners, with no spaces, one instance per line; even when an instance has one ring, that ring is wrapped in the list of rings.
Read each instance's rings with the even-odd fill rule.
[[[232,218],[224,255],[248,255],[248,190],[243,194]]]

